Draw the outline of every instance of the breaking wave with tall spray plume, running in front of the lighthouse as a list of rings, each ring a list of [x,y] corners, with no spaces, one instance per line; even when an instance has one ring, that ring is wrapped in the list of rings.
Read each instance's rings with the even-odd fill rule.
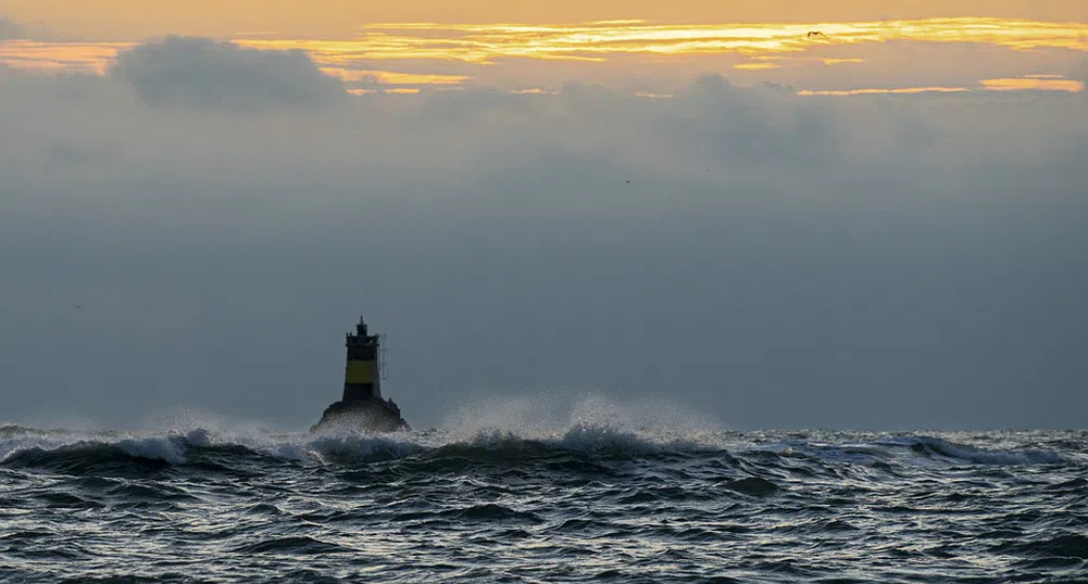
[[[420,457],[430,467],[444,468],[458,460],[517,464],[567,453],[632,459],[725,448],[716,425],[675,405],[620,405],[596,396],[567,402],[537,397],[478,402],[455,411],[437,428],[397,434],[273,432],[189,411],[170,412],[157,423],[163,430],[143,433],[2,426],[0,465],[79,473],[126,463],[144,469],[189,464],[214,471],[233,469],[243,459],[356,464]]]

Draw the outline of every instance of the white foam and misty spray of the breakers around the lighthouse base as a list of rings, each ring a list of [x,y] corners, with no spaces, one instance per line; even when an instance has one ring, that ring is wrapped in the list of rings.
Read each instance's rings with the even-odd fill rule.
[[[469,401],[436,428],[361,434],[339,430],[311,435],[184,408],[157,412],[134,432],[35,431],[0,439],[0,460],[29,450],[79,443],[106,445],[140,458],[185,463],[194,448],[242,446],[300,462],[404,458],[445,446],[505,448],[530,443],[589,452],[648,453],[663,449],[720,449],[720,426],[664,400],[619,402],[593,393],[544,392]]]

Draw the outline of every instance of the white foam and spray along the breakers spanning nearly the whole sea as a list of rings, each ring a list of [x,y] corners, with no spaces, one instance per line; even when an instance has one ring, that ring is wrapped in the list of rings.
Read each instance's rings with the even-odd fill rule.
[[[662,412],[665,412],[664,414]],[[678,412],[680,419],[678,420]],[[865,464],[877,458],[975,464],[1060,464],[1073,459],[1044,449],[993,449],[975,446],[969,436],[855,436],[861,442],[829,444],[818,436],[763,443],[728,437],[693,423],[675,407],[647,402],[625,405],[598,396],[558,399],[512,398],[482,401],[455,412],[432,430],[362,434],[346,430],[311,435],[261,428],[259,424],[225,422],[218,417],[173,420],[162,430],[145,432],[42,431],[5,426],[0,433],[0,461],[29,450],[54,451],[114,447],[129,456],[184,464],[194,449],[240,446],[252,452],[304,463],[363,462],[400,459],[444,447],[468,446],[495,450],[541,446],[607,456],[660,452],[770,450],[798,451],[823,460]],[[694,428],[694,430],[692,430]],[[784,436],[783,436],[784,438]],[[744,443],[744,444],[742,444]]]

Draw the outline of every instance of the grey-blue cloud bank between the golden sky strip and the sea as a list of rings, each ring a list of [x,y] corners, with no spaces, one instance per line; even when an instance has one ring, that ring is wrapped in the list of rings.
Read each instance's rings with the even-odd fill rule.
[[[737,427],[1086,423],[1083,95],[332,99],[195,39],[0,84],[13,420],[305,427],[364,313],[417,426],[580,388]]]

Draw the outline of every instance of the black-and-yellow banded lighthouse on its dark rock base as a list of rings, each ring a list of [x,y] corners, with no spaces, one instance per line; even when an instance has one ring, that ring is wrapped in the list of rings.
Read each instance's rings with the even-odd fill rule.
[[[382,336],[372,335],[362,318],[355,333],[345,336],[347,359],[344,365],[344,395],[325,408],[321,421],[310,432],[347,430],[361,432],[398,432],[411,427],[400,417],[400,408],[382,397],[384,352]]]

